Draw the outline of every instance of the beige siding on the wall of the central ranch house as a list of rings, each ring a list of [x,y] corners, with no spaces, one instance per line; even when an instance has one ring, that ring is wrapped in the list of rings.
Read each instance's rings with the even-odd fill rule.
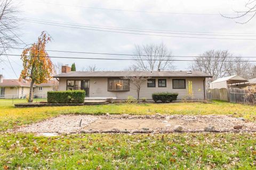
[[[86,78],[87,79],[87,78]],[[173,78],[159,78],[166,79],[166,87],[158,87],[158,79],[156,79],[156,87],[148,88],[147,82],[142,84],[140,90],[140,98],[151,99],[151,95],[154,92],[177,92],[179,94],[178,99],[188,98],[188,81],[192,81],[193,84],[193,95],[194,99],[204,99],[204,78],[186,78],[186,89],[173,89],[172,79]],[[185,79],[185,78],[175,78]],[[68,79],[74,80],[74,79]],[[78,80],[78,79],[77,79]],[[137,97],[137,92],[134,86],[131,84],[130,91],[108,91],[108,78],[90,78],[90,97],[106,97],[106,98],[117,98],[127,99],[128,96]],[[66,90],[67,79],[60,78],[60,90]]]

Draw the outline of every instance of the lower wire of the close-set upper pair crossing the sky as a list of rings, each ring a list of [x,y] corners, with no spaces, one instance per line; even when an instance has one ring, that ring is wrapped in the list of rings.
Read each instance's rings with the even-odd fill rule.
[[[143,30],[143,29],[136,29],[136,28],[115,28],[115,27],[106,27],[100,25],[89,25],[89,24],[70,24],[65,22],[59,21],[42,21],[38,19],[23,19],[26,21],[33,21],[33,22],[41,22],[43,23],[50,23],[50,24],[61,24],[61,25],[70,25],[75,27],[85,27],[85,28],[97,28],[97,29],[107,29],[107,30],[119,30],[119,31],[132,31],[132,32],[146,32],[146,33],[164,33],[164,34],[171,34],[171,35],[196,35],[196,36],[225,36],[225,37],[256,37],[256,35],[222,35],[222,34],[205,34],[205,33],[185,33],[185,32],[171,32],[171,31],[151,31],[151,30]]]

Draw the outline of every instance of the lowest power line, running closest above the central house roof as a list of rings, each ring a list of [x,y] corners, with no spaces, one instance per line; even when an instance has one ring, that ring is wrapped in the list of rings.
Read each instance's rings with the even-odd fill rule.
[[[18,54],[6,54],[9,56],[20,56]],[[27,55],[29,57],[49,57],[49,58],[68,58],[68,59],[84,59],[84,60],[116,60],[116,61],[180,61],[180,62],[187,62],[187,61],[207,61],[207,60],[159,60],[159,59],[153,59],[153,60],[149,60],[149,59],[135,59],[135,58],[100,58],[100,57],[64,57],[64,56],[31,56],[31,55]],[[209,62],[211,62],[211,60],[208,60]],[[237,61],[224,61],[224,62],[237,62]],[[239,62],[256,62],[255,61],[239,61]]]

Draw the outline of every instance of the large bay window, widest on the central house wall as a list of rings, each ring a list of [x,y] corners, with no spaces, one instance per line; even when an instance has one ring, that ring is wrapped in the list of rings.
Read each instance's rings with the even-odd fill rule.
[[[108,91],[129,91],[130,84],[128,80],[108,79]]]

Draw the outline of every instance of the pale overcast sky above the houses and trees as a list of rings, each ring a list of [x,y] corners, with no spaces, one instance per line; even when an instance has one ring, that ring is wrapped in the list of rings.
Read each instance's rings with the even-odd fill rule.
[[[20,1],[17,1],[20,2]],[[247,0],[215,0],[215,1],[29,1],[20,2],[20,18],[39,19],[45,21],[65,22],[83,25],[100,25],[102,27],[136,28],[147,30],[181,31],[176,33],[212,32],[222,36],[198,36],[166,33],[148,33],[182,37],[210,37],[210,38],[250,38],[256,39],[256,18],[247,24],[236,23],[235,20],[223,18],[222,14],[234,14],[233,10],[243,10]],[[100,9],[101,8],[101,9]],[[102,9],[105,8],[105,9]],[[118,10],[107,10],[118,9]],[[146,11],[146,12],[145,12]],[[174,14],[179,13],[179,14]],[[234,16],[234,15],[228,15]],[[246,20],[246,19],[243,19]],[[239,20],[239,21],[243,21]],[[229,50],[235,55],[256,56],[256,40],[234,39],[199,39],[181,37],[163,37],[149,35],[132,35],[117,32],[103,32],[77,28],[57,27],[54,25],[20,22],[19,35],[25,43],[31,44],[37,40],[42,31],[47,31],[52,42],[47,49],[69,50],[95,53],[126,53],[134,52],[134,45],[164,43],[173,55],[198,55],[206,50]],[[66,25],[67,26],[67,25]],[[93,26],[94,27],[94,26]],[[81,27],[80,27],[81,28]],[[89,27],[83,27],[88,29]],[[89,28],[95,29],[95,28]],[[106,29],[105,29],[106,30]],[[108,29],[109,30],[109,29]],[[182,32],[189,31],[189,32]],[[127,31],[122,31],[127,32]],[[137,32],[138,33],[138,32]],[[145,32],[139,32],[145,33]],[[173,33],[173,32],[172,32]],[[248,34],[250,33],[250,34]],[[202,33],[201,33],[202,34]],[[223,36],[224,35],[224,36]],[[233,36],[225,36],[233,35]],[[236,36],[234,36],[236,35]],[[247,36],[238,36],[247,35]],[[20,42],[21,43],[21,42]],[[24,44],[17,47],[24,47]],[[21,50],[10,50],[9,54],[21,54]],[[50,56],[75,57],[116,57],[88,54],[68,54],[49,52]],[[11,63],[19,76],[22,69],[20,57],[11,57]],[[186,59],[186,58],[175,58]],[[191,59],[191,58],[190,58]],[[253,60],[253,59],[251,59]],[[75,62],[77,70],[88,65],[96,65],[102,70],[124,70],[132,64],[131,61],[101,61],[101,60],[74,60],[52,58],[53,63],[69,64]],[[177,70],[187,70],[189,62],[175,62]],[[8,62],[0,65],[4,77],[17,78]],[[2,70],[3,68],[3,70]]]

